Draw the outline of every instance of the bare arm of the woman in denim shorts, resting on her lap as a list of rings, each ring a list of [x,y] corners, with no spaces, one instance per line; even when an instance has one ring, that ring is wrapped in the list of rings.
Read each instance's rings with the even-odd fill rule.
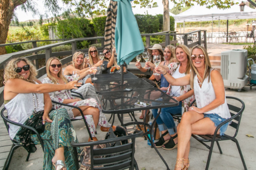
[[[212,70],[210,76],[212,86],[215,92],[215,100],[213,100],[209,105],[202,107],[201,109],[193,106],[189,107],[189,110],[192,110],[193,108],[193,110],[195,110],[198,113],[204,113],[209,110],[215,109],[216,107],[222,105],[225,102],[225,87],[220,72],[218,70]]]

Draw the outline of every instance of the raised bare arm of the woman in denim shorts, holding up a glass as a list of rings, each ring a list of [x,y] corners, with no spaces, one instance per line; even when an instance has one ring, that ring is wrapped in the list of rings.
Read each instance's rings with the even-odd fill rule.
[[[189,85],[190,83],[190,74],[184,76],[184,77],[180,77],[180,78],[174,78],[172,77],[172,75],[168,74],[169,72],[169,67],[168,68],[168,72],[166,71],[166,67],[167,66],[163,66],[163,65],[159,65],[158,67],[155,68],[155,71],[158,73],[161,73],[164,75],[164,77],[166,78],[166,80],[171,84],[171,85],[178,85],[178,86],[182,86],[182,85]]]

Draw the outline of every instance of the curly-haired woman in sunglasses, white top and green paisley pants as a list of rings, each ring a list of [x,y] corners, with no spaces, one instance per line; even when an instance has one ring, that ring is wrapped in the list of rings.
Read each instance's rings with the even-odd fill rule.
[[[4,100],[8,119],[31,127],[40,126],[38,132],[44,141],[44,158],[47,158],[43,169],[54,169],[54,163],[61,170],[76,170],[71,146],[71,143],[77,142],[74,128],[66,109],[51,110],[49,92],[77,89],[76,86],[81,83],[42,84],[36,75],[36,68],[24,57],[14,58],[5,66]],[[30,135],[27,129],[19,126],[9,126],[12,140],[22,141],[29,153],[36,151],[34,145],[40,144],[36,135]]]

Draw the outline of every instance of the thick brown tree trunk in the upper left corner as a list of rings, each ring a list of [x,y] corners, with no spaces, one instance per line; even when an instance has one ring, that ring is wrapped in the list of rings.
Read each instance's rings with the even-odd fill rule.
[[[15,7],[27,0],[0,0],[0,44],[5,44],[9,25],[13,17]],[[0,47],[0,55],[6,54],[5,47]]]

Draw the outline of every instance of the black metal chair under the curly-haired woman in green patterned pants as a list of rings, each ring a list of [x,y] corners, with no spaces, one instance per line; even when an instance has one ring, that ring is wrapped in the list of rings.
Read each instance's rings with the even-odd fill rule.
[[[41,136],[39,135],[39,133],[36,131],[36,129],[9,120],[9,119],[8,119],[8,116],[5,116],[5,115],[4,115],[4,111],[5,111],[5,110],[6,110],[5,107],[1,110],[1,117],[3,118],[3,121],[4,121],[4,123],[5,123],[5,126],[6,126],[6,128],[7,128],[7,130],[8,130],[8,133],[9,133],[9,125],[8,125],[8,123],[9,123],[9,124],[16,125],[16,126],[23,127],[23,128],[28,128],[28,129],[32,130],[32,131],[37,135],[37,137],[38,137],[38,139],[39,139],[39,141],[40,141],[40,143],[41,143],[43,152],[44,152],[44,143],[43,143],[43,140],[42,140]],[[10,162],[11,162],[11,160],[12,160],[12,158],[13,158],[14,150],[17,149],[17,148],[19,148],[20,146],[22,146],[21,143],[17,143],[17,142],[15,142],[14,140],[11,140],[11,141],[12,141],[13,145],[12,145],[12,147],[11,147],[11,149],[10,149],[10,153],[9,153],[8,157],[6,158],[5,165],[3,166],[3,170],[8,170],[9,165],[10,165]],[[27,156],[26,161],[28,161],[29,157],[30,157],[30,153],[28,153],[28,156]]]

